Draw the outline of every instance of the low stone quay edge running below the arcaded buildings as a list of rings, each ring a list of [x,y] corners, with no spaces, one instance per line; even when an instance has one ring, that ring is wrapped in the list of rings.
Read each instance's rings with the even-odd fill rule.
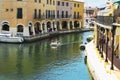
[[[87,32],[87,31],[93,31],[93,30],[94,30],[93,28],[88,28],[88,29],[83,28],[83,29],[78,29],[78,30],[56,31],[56,32],[38,34],[38,35],[33,35],[33,36],[24,36],[23,38],[24,38],[24,43],[29,43],[29,42],[34,42],[34,41],[42,40],[45,38],[49,38],[49,37],[54,37],[57,35]]]

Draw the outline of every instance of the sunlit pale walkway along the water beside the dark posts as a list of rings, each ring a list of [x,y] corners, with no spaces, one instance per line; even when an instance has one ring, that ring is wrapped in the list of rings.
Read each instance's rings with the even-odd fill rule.
[[[86,45],[87,63],[94,80],[120,80],[120,70],[110,70],[111,63],[105,63],[92,42]]]

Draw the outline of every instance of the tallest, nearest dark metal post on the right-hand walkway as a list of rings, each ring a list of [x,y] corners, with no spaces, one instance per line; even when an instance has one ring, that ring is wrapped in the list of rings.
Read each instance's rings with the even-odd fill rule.
[[[115,37],[116,26],[112,25],[112,60],[111,60],[111,70],[114,70],[114,37]]]

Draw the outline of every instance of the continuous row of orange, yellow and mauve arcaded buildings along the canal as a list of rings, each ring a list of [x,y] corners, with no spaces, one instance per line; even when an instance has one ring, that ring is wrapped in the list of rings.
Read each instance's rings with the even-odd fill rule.
[[[72,0],[0,0],[0,33],[30,36],[81,28],[83,11],[84,3]]]

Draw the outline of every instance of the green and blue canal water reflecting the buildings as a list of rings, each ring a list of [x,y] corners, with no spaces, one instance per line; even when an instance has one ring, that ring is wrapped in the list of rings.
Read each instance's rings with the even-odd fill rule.
[[[93,32],[60,35],[58,47],[53,38],[29,44],[0,43],[0,80],[90,80],[79,49]]]

